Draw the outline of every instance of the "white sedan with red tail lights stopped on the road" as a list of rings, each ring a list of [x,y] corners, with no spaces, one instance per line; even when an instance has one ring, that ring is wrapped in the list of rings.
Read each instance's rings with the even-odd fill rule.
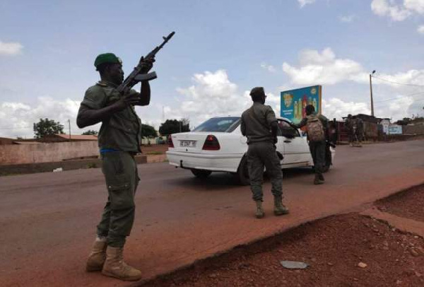
[[[283,155],[281,168],[313,166],[306,136],[289,122],[278,117],[276,148]],[[241,184],[247,185],[246,141],[240,131],[240,117],[213,117],[193,131],[172,134],[166,155],[170,165],[192,170],[196,177],[208,177],[211,172],[231,172]],[[327,153],[325,170],[331,165],[334,148],[330,147]]]

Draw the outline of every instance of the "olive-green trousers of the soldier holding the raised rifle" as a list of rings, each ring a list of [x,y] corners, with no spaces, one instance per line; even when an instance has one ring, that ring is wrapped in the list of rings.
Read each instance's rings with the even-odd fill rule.
[[[102,172],[108,197],[97,233],[107,238],[107,245],[124,247],[134,223],[134,196],[140,180],[134,156],[124,151],[104,153]]]

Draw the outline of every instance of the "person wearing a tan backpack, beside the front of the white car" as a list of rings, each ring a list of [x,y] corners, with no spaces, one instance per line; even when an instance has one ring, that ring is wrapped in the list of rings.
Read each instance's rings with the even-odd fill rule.
[[[329,121],[323,115],[315,113],[313,105],[305,107],[306,117],[299,124],[293,127],[298,129],[307,127],[307,139],[309,141],[312,159],[314,160],[314,185],[322,185],[324,183],[324,175],[322,175],[325,165],[326,140],[328,140]]]

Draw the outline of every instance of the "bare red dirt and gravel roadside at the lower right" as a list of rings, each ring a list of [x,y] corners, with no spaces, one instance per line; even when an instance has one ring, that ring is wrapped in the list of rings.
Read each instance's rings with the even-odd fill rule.
[[[380,201],[379,206],[423,221],[424,187]],[[404,213],[416,207],[421,213]],[[288,270],[281,260],[310,266]],[[367,266],[360,268],[360,262]],[[358,213],[331,216],[143,286],[424,286],[424,239]]]

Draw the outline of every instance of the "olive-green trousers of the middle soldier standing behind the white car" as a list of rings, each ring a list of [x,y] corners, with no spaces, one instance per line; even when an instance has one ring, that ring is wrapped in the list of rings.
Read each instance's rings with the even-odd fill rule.
[[[264,181],[264,168],[271,177],[271,192],[274,197],[283,197],[283,172],[280,159],[276,153],[276,146],[269,141],[259,141],[249,144],[247,150],[247,165],[249,168],[250,189],[253,200],[262,201],[262,183]]]

